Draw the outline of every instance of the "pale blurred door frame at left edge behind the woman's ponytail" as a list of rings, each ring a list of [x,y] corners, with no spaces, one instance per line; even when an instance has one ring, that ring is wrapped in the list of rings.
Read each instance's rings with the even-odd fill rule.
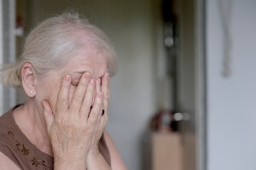
[[[16,59],[16,6],[15,0],[0,0],[0,65]],[[0,116],[16,104],[14,88],[0,85]]]

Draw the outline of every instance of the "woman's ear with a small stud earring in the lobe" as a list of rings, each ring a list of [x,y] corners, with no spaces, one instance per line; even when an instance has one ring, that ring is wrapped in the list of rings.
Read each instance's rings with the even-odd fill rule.
[[[27,96],[36,95],[36,74],[32,64],[25,63],[21,68],[22,86]]]

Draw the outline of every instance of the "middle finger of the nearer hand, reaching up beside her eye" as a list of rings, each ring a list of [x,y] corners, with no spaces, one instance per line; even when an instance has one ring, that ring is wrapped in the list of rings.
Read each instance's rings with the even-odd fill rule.
[[[73,99],[71,101],[70,109],[74,112],[79,112],[81,105],[84,101],[84,94],[86,88],[90,82],[90,73],[85,72],[80,78],[79,85],[76,88],[75,93],[73,94]]]

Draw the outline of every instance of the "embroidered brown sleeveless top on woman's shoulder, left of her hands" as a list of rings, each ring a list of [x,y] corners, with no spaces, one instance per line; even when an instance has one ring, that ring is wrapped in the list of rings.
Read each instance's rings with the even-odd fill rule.
[[[53,170],[53,157],[38,150],[16,124],[15,108],[0,117],[0,151],[20,169]]]

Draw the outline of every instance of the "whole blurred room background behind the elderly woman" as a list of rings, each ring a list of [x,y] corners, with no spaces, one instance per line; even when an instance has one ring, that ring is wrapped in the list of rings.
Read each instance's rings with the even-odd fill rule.
[[[73,9],[115,47],[108,132],[130,170],[256,169],[255,0],[0,0],[0,64]],[[22,100],[0,87],[1,113]]]

